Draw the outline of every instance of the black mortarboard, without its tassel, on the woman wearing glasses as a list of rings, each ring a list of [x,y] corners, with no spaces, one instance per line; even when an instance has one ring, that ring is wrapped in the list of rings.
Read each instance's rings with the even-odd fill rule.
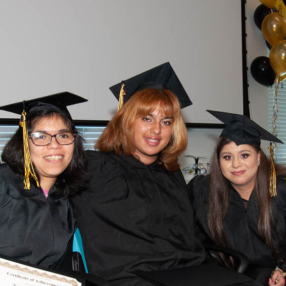
[[[45,96],[41,98],[36,98],[32,100],[21,101],[14,104],[1,106],[0,110],[5,110],[21,115],[24,109],[25,112],[28,114],[29,111],[31,111],[34,108],[44,107],[46,105],[54,105],[68,112],[67,106],[86,101],[87,101],[86,99],[77,96],[76,94],[65,91],[52,94],[51,96]]]

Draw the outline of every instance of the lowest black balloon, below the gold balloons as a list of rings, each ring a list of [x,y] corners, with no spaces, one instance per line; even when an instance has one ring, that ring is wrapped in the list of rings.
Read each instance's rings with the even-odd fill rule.
[[[253,78],[262,85],[271,86],[274,84],[276,74],[271,68],[269,58],[261,56],[253,60],[250,71]]]

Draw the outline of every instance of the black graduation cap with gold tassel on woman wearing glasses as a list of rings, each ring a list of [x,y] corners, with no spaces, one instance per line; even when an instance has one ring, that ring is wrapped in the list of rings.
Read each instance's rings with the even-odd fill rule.
[[[9,104],[5,106],[1,106],[0,110],[5,110],[9,112],[13,112],[16,114],[21,114],[20,126],[23,129],[23,146],[24,146],[24,162],[25,162],[25,178],[24,178],[24,185],[25,189],[30,189],[30,176],[32,176],[37,186],[39,187],[39,182],[36,177],[31,155],[29,151],[29,144],[28,144],[28,132],[26,128],[26,115],[36,109],[44,109],[49,106],[56,106],[62,111],[64,111],[70,118],[70,113],[67,110],[67,106],[74,105],[77,103],[86,102],[87,100],[77,96],[76,94],[70,92],[60,92],[56,94],[52,94],[51,96],[36,98],[28,101],[22,101],[14,104]]]

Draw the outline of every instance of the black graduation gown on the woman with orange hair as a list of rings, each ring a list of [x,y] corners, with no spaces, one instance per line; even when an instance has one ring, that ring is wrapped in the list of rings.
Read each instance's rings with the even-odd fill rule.
[[[72,202],[89,273],[115,285],[151,285],[133,272],[204,261],[180,170],[132,156],[87,155],[91,179]]]

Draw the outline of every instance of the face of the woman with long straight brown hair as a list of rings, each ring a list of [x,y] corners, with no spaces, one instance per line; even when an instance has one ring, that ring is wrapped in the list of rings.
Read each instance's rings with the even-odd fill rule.
[[[221,172],[236,190],[252,192],[260,153],[250,145],[237,146],[234,142],[226,144],[219,156]]]

